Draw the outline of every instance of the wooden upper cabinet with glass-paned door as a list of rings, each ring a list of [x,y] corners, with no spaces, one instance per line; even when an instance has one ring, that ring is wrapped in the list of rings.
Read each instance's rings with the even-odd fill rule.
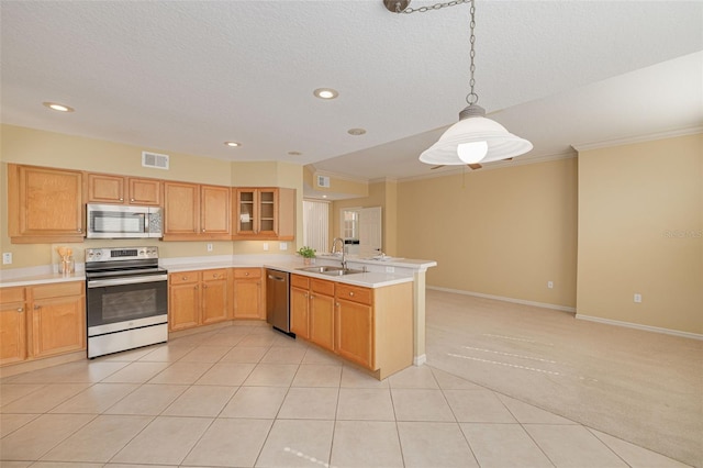
[[[233,190],[235,239],[292,241],[295,237],[295,190],[237,188]]]

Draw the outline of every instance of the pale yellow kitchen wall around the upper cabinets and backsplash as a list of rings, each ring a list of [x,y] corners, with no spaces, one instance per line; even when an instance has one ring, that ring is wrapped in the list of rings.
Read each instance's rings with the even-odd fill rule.
[[[142,148],[120,143],[104,142],[80,136],[2,124],[0,126],[0,247],[12,253],[12,265],[0,265],[0,269],[24,268],[47,265],[55,260],[55,245],[11,244],[7,219],[7,165],[8,163],[68,168],[125,176],[152,177],[166,180],[182,180],[196,183],[246,187],[288,187],[297,189],[298,205],[302,203],[302,166],[287,163],[230,163],[163,151]],[[142,151],[168,154],[169,170],[142,167]],[[300,211],[300,210],[299,210]],[[297,238],[302,238],[302,212],[297,213]],[[159,242],[153,239],[112,241],[86,239],[75,244],[76,261],[83,261],[83,249],[90,247],[157,245],[165,258],[217,256],[234,254],[291,253],[295,242],[288,242],[288,249],[280,250],[279,242],[211,242],[213,250],[207,250],[205,242]]]

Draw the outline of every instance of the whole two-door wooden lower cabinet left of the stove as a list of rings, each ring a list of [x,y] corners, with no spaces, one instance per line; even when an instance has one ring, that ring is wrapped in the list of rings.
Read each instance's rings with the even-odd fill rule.
[[[0,365],[86,349],[85,282],[0,289]]]

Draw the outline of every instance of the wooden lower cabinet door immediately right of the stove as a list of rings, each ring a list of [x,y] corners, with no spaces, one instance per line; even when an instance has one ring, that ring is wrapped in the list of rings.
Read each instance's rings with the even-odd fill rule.
[[[170,274],[168,288],[168,330],[177,332],[200,325],[200,274]]]

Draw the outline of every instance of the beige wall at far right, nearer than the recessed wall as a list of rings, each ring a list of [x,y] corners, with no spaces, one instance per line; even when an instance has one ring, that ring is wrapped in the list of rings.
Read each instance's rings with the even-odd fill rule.
[[[578,314],[703,334],[702,134],[579,153],[578,278]]]

